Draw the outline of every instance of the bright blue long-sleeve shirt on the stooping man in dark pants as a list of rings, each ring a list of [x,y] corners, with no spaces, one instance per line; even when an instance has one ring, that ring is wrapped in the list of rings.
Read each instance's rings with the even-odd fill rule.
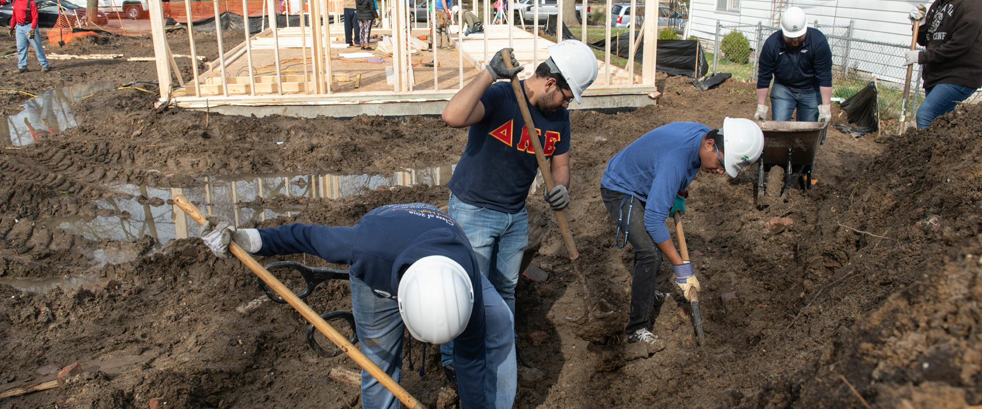
[[[656,243],[672,238],[665,219],[675,196],[701,167],[699,142],[709,127],[673,123],[641,135],[607,163],[600,185],[645,202],[644,229]]]

